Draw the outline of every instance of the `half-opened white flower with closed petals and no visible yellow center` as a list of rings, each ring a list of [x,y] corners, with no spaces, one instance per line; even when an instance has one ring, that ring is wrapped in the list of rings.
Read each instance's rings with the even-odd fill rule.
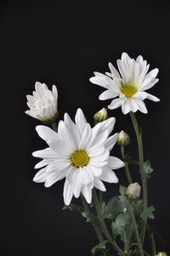
[[[35,88],[36,91],[33,91],[33,96],[26,95],[27,105],[30,108],[26,114],[42,122],[54,122],[58,115],[56,86],[53,85],[52,91],[50,91],[45,83],[36,82]]]

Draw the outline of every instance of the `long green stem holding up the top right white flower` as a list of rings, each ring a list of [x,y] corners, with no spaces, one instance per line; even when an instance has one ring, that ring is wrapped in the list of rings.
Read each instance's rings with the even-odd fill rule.
[[[147,224],[147,204],[148,204],[148,197],[147,197],[147,185],[146,185],[146,179],[144,174],[144,152],[143,152],[143,145],[142,145],[142,135],[139,132],[139,125],[136,120],[136,117],[133,112],[130,112],[130,116],[132,118],[133,127],[136,133],[136,137],[138,140],[138,146],[139,146],[139,168],[140,168],[140,175],[142,179],[142,188],[143,188],[143,202],[144,202],[144,222],[142,225],[141,230],[141,244],[144,243],[144,236],[145,236],[145,230],[146,230],[146,224]]]

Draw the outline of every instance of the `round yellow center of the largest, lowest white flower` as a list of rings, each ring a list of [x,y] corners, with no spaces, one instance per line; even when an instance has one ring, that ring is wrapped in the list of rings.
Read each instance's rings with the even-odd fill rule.
[[[90,157],[86,151],[75,151],[70,157],[72,165],[76,168],[86,166],[89,162],[89,159]]]

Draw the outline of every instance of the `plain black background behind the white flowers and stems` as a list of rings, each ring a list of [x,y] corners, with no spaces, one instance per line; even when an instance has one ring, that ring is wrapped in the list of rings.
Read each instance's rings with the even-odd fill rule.
[[[143,127],[144,158],[155,172],[150,179],[149,202],[156,207],[154,230],[158,251],[169,250],[169,1],[3,1],[0,4],[1,63],[1,218],[2,256],[90,255],[97,243],[94,230],[77,212],[62,211],[63,181],[51,188],[36,184],[37,162],[32,151],[46,147],[37,136],[36,119],[26,116],[26,94],[36,81],[59,90],[59,119],[65,111],[73,118],[81,107],[88,122],[94,112],[109,104],[99,101],[102,88],[88,79],[93,71],[109,71],[122,51],[139,54],[158,67],[160,82],[150,93],[161,99],[145,100],[149,113],[137,113]],[[132,138],[129,151],[137,156],[130,117],[121,109],[115,131],[125,129]],[[118,146],[114,154],[120,156]],[[138,179],[138,169],[132,170]],[[123,169],[116,174],[123,185]],[[139,180],[139,179],[138,179]],[[139,180],[140,182],[140,180]],[[117,193],[118,185],[107,185],[105,198]],[[79,203],[79,199],[74,200]]]

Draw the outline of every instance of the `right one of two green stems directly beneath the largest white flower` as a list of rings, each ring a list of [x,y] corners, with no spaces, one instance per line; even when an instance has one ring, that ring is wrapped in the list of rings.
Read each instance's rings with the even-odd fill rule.
[[[125,256],[125,254],[123,253],[122,249],[112,239],[109,231],[107,230],[107,227],[105,225],[105,220],[103,219],[101,211],[100,211],[100,208],[99,208],[99,200],[98,200],[98,196],[96,194],[95,189],[94,189],[93,197],[94,197],[94,205],[95,205],[95,208],[96,208],[96,211],[97,211],[97,214],[98,214],[98,219],[99,219],[99,224],[101,226],[101,230],[103,231],[103,233],[104,233],[105,237],[107,238],[107,240],[109,242],[111,242],[111,245],[115,248],[116,252],[119,253],[121,256]]]

